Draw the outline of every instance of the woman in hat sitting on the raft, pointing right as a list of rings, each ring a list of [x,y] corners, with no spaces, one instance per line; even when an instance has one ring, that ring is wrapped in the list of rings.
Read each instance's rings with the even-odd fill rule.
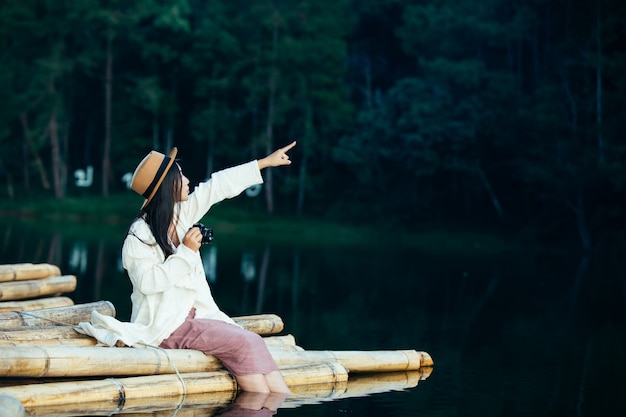
[[[289,393],[261,337],[238,326],[215,303],[199,249],[198,222],[209,208],[263,182],[261,170],[289,165],[295,142],[258,161],[214,173],[189,193],[189,180],[168,155],[150,152],[137,166],[131,188],[144,196],[122,245],[122,264],[133,286],[130,322],[97,312],[84,333],[113,346],[196,349],[214,355],[243,391]]]

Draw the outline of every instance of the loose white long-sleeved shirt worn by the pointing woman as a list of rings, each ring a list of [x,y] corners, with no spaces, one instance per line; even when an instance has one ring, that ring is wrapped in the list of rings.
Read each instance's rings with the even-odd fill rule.
[[[211,206],[262,182],[257,161],[214,173],[189,194],[187,201],[176,204],[179,241]],[[81,333],[108,346],[114,346],[118,340],[128,346],[158,346],[183,324],[192,307],[198,318],[234,324],[211,295],[199,251],[181,243],[166,260],[143,219],[130,227],[122,245],[122,264],[133,285],[130,322],[94,311],[91,323],[78,324]]]

